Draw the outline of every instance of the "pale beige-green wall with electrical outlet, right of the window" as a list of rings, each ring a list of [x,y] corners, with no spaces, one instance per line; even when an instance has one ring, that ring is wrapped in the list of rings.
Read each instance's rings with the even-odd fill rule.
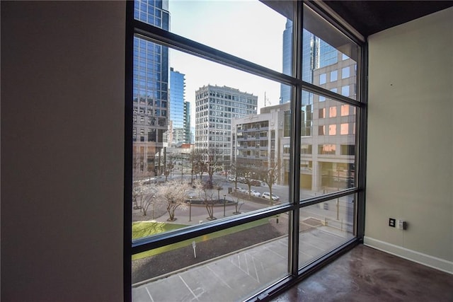
[[[451,273],[452,20],[449,8],[369,37],[365,222],[366,244]]]

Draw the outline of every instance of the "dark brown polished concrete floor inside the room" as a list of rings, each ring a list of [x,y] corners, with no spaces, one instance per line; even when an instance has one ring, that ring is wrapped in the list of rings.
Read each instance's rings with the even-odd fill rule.
[[[273,301],[453,301],[453,275],[358,245]]]

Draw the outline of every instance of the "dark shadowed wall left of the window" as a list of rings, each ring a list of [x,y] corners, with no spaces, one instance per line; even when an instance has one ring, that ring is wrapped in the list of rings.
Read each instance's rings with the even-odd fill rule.
[[[1,1],[1,301],[122,301],[125,3]]]

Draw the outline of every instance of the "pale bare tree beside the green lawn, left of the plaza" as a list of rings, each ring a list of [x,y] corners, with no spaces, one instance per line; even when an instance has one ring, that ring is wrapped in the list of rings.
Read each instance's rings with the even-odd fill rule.
[[[185,199],[190,190],[187,183],[179,180],[171,180],[156,186],[156,200],[165,205],[168,212],[167,221],[175,221],[176,209],[187,209]]]

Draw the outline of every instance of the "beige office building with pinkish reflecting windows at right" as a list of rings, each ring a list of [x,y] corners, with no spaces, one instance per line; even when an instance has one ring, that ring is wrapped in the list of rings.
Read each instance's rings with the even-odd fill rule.
[[[324,44],[324,45],[323,45]],[[356,62],[320,43],[314,84],[355,99]],[[313,95],[311,136],[301,141],[301,187],[308,190],[348,188],[355,175],[355,107]]]

